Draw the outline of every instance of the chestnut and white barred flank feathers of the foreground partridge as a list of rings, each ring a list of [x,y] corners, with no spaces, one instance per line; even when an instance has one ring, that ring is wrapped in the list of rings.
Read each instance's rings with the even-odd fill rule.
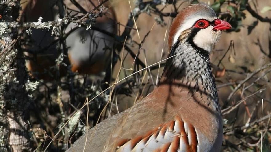
[[[187,130],[185,125],[188,126]],[[123,143],[125,142],[126,143]],[[184,123],[180,117],[176,116],[174,121],[165,123],[157,127],[151,134],[138,136],[131,140],[122,140],[118,144],[116,152],[124,151],[197,151],[197,133],[195,128],[188,123]]]

